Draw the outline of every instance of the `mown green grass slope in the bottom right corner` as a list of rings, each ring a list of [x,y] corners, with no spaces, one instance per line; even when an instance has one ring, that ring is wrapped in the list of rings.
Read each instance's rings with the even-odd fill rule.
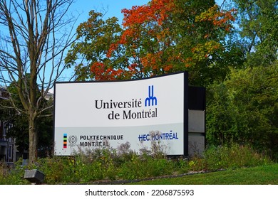
[[[140,181],[140,185],[278,185],[278,163],[252,168],[236,168],[177,178]]]

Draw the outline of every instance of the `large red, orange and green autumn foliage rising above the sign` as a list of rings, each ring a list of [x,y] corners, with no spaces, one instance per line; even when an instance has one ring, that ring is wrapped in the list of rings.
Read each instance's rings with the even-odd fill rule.
[[[199,6],[152,0],[123,9],[123,31],[107,46],[105,58],[91,63],[94,79],[150,77],[209,65],[222,50],[218,36],[231,30],[235,10],[222,11],[212,3]]]

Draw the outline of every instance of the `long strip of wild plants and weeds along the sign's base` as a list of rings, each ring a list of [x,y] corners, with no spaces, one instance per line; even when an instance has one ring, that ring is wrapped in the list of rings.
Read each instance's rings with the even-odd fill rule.
[[[134,180],[187,173],[188,171],[217,171],[220,168],[238,168],[262,166],[271,163],[265,154],[259,154],[251,146],[230,144],[210,146],[204,156],[170,159],[153,152],[136,154],[125,145],[120,154],[114,149],[103,148],[91,151],[79,151],[75,156],[54,156],[41,158],[29,166],[14,168],[0,164],[0,184],[28,184],[24,176],[25,169],[38,169],[45,174],[46,184],[90,183],[101,180]]]

